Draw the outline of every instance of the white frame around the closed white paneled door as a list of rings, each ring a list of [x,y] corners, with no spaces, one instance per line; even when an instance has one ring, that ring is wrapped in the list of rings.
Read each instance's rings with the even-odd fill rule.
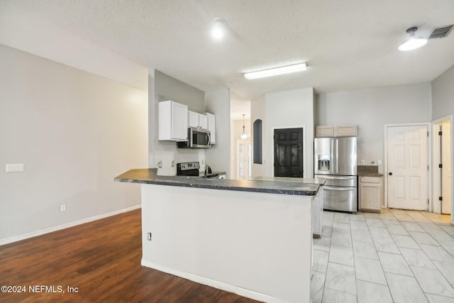
[[[428,197],[428,211],[432,211],[432,131],[430,122],[421,123],[392,123],[384,124],[384,163],[383,163],[383,177],[384,177],[384,207],[388,207],[388,128],[396,126],[426,126],[428,131],[427,137],[427,165],[428,165],[428,176],[427,176],[427,197]]]

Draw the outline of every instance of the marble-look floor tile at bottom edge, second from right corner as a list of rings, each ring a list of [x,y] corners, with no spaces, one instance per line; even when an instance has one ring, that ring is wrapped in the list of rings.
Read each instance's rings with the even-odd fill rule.
[[[388,281],[389,290],[391,291],[394,302],[399,303],[424,303],[428,302],[421,287],[414,277],[406,275],[396,275],[391,272],[385,272]]]

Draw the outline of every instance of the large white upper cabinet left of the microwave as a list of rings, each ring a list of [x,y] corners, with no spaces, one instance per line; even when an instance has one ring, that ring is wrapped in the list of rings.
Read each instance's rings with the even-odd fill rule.
[[[175,101],[157,104],[157,138],[160,141],[187,141],[187,106]]]

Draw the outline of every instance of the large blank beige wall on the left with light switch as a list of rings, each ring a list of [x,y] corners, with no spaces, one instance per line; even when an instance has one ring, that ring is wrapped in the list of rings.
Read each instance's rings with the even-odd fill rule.
[[[0,165],[25,165],[0,170],[0,243],[140,205],[114,177],[147,166],[147,92],[4,45],[0,63]]]

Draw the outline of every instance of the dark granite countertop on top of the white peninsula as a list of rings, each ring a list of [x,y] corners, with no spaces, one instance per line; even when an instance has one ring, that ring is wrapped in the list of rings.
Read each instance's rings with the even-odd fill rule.
[[[314,196],[317,194],[319,183],[276,182],[272,180],[230,180],[218,178],[158,176],[155,168],[128,170],[115,177],[118,182],[133,182],[140,184],[160,184],[178,187],[198,187],[209,189],[236,190],[241,192],[265,192],[270,194],[294,194],[299,196]]]

